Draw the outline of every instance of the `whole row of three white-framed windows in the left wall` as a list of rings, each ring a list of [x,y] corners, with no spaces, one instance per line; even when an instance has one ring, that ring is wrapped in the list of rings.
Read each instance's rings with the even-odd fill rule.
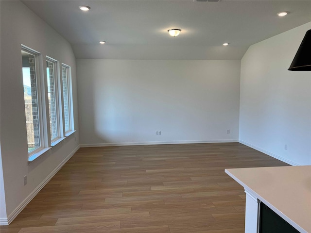
[[[56,60],[46,57],[43,63],[40,53],[23,45],[21,58],[28,161],[33,161],[74,133],[71,70],[62,64],[60,76]],[[42,72],[45,64],[46,77]]]

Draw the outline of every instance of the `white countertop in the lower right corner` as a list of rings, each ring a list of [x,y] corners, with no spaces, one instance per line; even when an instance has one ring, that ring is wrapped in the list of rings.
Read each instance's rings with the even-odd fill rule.
[[[311,233],[311,166],[225,169],[246,191],[302,233]]]

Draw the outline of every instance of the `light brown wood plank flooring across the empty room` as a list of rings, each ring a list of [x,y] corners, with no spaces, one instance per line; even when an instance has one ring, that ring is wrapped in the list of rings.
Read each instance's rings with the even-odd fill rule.
[[[240,143],[81,148],[1,233],[243,233],[225,168],[288,166]]]

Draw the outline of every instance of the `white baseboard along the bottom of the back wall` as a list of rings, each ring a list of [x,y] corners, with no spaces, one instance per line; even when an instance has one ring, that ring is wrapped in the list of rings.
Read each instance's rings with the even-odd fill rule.
[[[193,144],[193,143],[226,143],[239,142],[238,140],[197,140],[197,141],[155,141],[155,142],[114,142],[81,144],[80,147],[118,147],[118,146],[140,146],[140,145],[162,145],[162,144]]]

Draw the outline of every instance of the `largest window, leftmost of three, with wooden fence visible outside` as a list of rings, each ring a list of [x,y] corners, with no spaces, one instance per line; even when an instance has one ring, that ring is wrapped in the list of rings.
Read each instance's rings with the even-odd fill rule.
[[[40,101],[40,85],[37,58],[38,54],[22,48],[22,73],[24,84],[24,100],[25,100],[25,115],[27,129],[27,143],[29,155],[42,149],[43,143],[43,127],[40,125],[41,116],[41,101]]]

